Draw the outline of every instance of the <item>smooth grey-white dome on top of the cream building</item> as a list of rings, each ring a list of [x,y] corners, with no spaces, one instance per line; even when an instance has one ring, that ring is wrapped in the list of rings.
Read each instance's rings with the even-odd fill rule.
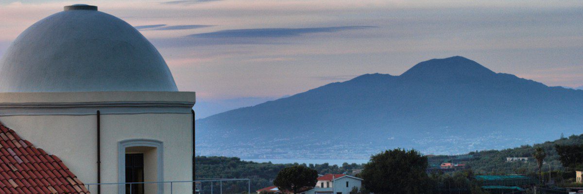
[[[160,53],[123,20],[72,5],[24,30],[0,59],[0,92],[178,91]]]

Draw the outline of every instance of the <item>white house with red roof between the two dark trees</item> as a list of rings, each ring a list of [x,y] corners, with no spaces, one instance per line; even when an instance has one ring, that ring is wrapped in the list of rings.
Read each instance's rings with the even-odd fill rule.
[[[362,186],[363,179],[352,177],[345,174],[326,174],[318,177],[318,182],[314,189],[306,191],[307,194],[315,193],[332,193],[332,194],[348,194],[352,188],[356,186],[359,189]]]

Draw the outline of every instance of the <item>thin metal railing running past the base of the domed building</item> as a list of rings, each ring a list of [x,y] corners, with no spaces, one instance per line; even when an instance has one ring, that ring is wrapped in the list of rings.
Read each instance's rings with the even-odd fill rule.
[[[170,193],[173,194],[174,184],[185,183],[185,182],[189,182],[192,184],[209,182],[210,183],[210,194],[213,194],[213,185],[214,185],[213,183],[219,182],[219,187],[220,187],[219,193],[223,194],[223,182],[228,182],[228,181],[247,181],[247,193],[251,193],[251,179],[248,179],[248,178],[218,178],[218,179],[203,179],[203,180],[195,180],[195,181],[113,182],[113,183],[101,183],[101,184],[85,184],[85,186],[87,187],[87,191],[91,192],[92,185],[94,185],[94,186],[96,186],[96,185],[129,185],[129,193],[132,194],[132,191],[133,191],[132,186],[133,185],[157,184],[159,186],[160,185],[163,186],[164,184],[170,184]],[[198,185],[197,185],[197,191],[199,189],[202,189],[202,188],[198,188]],[[166,193],[166,192],[164,192],[164,193]],[[125,194],[125,193],[119,193],[119,194]]]

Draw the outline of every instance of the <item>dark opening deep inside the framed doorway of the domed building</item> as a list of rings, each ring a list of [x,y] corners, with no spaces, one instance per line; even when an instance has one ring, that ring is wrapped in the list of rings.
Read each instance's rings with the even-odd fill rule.
[[[144,182],[144,154],[125,154],[125,182]],[[126,184],[125,193],[144,194],[144,184]]]

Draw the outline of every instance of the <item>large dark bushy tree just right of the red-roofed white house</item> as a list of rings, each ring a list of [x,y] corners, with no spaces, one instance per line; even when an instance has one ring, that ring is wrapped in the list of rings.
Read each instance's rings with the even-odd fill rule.
[[[370,157],[360,177],[373,193],[429,193],[427,157],[416,150],[394,149]]]

